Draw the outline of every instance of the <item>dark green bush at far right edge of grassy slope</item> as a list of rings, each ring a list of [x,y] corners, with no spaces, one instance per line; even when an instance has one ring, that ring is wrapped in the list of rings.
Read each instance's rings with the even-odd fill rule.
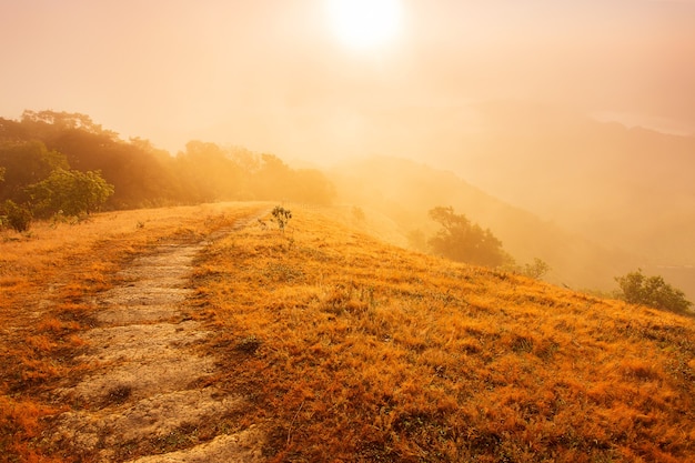
[[[673,288],[662,276],[645,276],[642,269],[616,276],[620,286],[618,298],[631,304],[647,305],[672,312],[686,313],[693,303],[685,299],[685,293]]]

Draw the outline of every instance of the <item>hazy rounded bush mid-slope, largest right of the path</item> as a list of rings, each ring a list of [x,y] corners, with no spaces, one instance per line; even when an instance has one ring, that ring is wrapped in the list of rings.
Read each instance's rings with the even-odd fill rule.
[[[502,249],[500,241],[490,229],[483,230],[463,214],[455,214],[454,208],[437,207],[430,211],[430,218],[442,229],[429,240],[434,253],[457,262],[476,265],[498,266],[512,262]]]

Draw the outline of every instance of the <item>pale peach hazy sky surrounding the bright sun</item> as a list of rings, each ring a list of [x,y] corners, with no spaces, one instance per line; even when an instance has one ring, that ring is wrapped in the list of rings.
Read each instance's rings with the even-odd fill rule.
[[[82,112],[175,152],[422,157],[516,99],[695,133],[695,1],[402,0],[350,47],[328,0],[0,0],[0,117]]]

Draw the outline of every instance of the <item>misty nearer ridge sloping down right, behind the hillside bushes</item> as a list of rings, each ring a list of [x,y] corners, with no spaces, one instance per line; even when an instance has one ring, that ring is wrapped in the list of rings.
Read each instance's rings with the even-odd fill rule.
[[[554,283],[608,290],[615,288],[614,276],[642,262],[512,207],[452,172],[414,161],[386,157],[353,160],[336,168],[331,179],[342,201],[380,211],[399,223],[404,234],[420,230],[431,235],[436,227],[427,211],[452,205],[456,213],[490,228],[517,263],[534,258],[546,261],[553,269],[547,279]]]

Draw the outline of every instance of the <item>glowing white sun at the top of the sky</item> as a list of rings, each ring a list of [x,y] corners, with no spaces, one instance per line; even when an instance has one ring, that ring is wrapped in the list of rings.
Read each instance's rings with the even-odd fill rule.
[[[372,48],[392,40],[401,22],[399,0],[328,0],[333,32],[345,46]]]

